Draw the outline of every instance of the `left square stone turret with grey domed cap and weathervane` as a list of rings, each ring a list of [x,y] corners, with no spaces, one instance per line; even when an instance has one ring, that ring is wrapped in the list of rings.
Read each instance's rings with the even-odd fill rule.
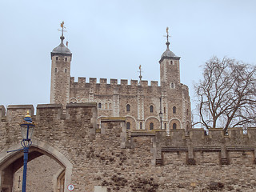
[[[50,53],[51,55],[51,82],[50,103],[60,103],[64,107],[70,99],[70,62],[72,54],[64,45],[64,22],[62,26],[61,43]]]

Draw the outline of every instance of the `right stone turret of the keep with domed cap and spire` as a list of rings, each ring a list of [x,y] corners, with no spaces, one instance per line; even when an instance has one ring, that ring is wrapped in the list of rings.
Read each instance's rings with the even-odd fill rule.
[[[166,51],[162,54],[160,63],[160,82],[161,86],[170,86],[170,88],[175,88],[180,83],[180,72],[179,72],[179,59],[172,51],[170,51],[170,42],[168,40],[169,33],[168,27],[166,29],[167,42]]]

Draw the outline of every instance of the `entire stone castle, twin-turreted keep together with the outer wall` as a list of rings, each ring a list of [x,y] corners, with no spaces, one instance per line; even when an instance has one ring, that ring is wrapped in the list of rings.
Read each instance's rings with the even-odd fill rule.
[[[160,86],[141,75],[74,82],[62,27],[50,53],[50,104],[35,113],[33,105],[0,105],[0,191],[22,191],[25,114],[35,125],[28,191],[255,191],[256,128],[190,129],[189,90],[166,37]]]

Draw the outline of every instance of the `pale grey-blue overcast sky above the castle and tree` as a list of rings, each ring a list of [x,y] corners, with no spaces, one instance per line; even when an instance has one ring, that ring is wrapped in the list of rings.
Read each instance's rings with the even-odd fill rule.
[[[159,82],[166,26],[191,101],[199,66],[213,55],[256,63],[254,0],[2,0],[0,105],[50,102],[50,52],[62,21],[75,79],[138,79],[142,65],[142,78]]]

